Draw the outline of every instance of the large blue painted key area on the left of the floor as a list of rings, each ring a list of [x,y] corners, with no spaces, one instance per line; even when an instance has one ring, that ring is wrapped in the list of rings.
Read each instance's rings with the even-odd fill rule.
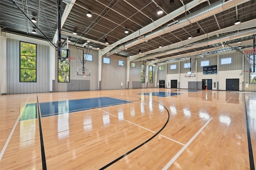
[[[110,97],[86,98],[40,103],[40,110],[42,117],[47,117],[125,103],[131,102]]]

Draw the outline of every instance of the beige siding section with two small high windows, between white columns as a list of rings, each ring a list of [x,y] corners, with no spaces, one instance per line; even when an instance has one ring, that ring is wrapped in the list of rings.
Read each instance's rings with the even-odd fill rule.
[[[126,89],[126,58],[116,55],[111,55],[108,58],[110,58],[110,64],[103,63],[102,57],[102,90]],[[124,61],[124,66],[119,66],[118,60]]]

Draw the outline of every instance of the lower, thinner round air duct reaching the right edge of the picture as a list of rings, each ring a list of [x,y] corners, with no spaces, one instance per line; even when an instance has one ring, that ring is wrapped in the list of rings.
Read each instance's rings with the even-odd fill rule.
[[[197,44],[192,44],[191,46],[186,46],[186,48],[180,47],[180,48],[176,48],[176,49],[173,49],[173,50],[159,52],[159,53],[156,53],[156,54],[150,54],[148,56],[144,56],[144,57],[138,58],[138,59],[133,60],[133,61],[136,62],[136,61],[141,61],[141,60],[148,60],[150,58],[156,58],[156,57],[165,56],[165,55],[169,55],[169,54],[180,53],[184,50],[190,50],[190,49],[193,49],[193,48],[200,48],[200,47],[203,47],[203,46],[218,44],[218,43],[225,42],[225,41],[236,40],[237,38],[242,38],[242,37],[250,36],[250,35],[253,35],[253,34],[256,34],[256,28],[246,30],[246,31],[243,31],[243,32],[239,32],[239,33],[235,33],[235,34],[231,34],[231,35],[224,36],[224,37],[221,37],[221,38],[216,38],[214,40],[209,40],[209,41],[206,41],[206,42],[200,42],[200,43],[197,43]]]

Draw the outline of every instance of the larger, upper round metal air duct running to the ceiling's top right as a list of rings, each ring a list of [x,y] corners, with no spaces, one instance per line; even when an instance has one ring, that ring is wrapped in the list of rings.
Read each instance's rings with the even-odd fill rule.
[[[157,29],[148,34],[145,34],[144,35],[145,39],[150,40],[157,36],[166,34],[168,32],[178,30],[179,28],[188,26],[191,23],[198,22],[200,20],[203,20],[205,18],[213,16],[214,14],[218,14],[220,12],[223,12],[225,10],[233,8],[234,6],[238,6],[238,5],[248,2],[248,1],[250,1],[250,0],[229,0],[228,2],[224,2],[223,0],[220,0],[212,5],[206,6],[205,8],[198,10],[197,12],[194,12],[192,14],[187,15],[186,17],[181,18],[180,20],[178,20],[178,24],[175,24],[174,26],[168,27],[168,25],[166,25],[160,29]],[[133,40],[131,42],[124,44],[124,46],[126,48],[130,48],[130,47],[140,44],[142,42],[144,42],[144,40]],[[107,54],[107,56],[112,55],[116,52],[118,52],[116,49],[111,50],[110,53]]]

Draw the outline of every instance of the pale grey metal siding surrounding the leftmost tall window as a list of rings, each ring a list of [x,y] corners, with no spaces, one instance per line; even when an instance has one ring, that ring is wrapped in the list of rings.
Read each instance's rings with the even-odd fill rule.
[[[7,38],[7,94],[50,92],[49,55],[49,46],[36,44],[36,82],[20,82],[20,41]]]

